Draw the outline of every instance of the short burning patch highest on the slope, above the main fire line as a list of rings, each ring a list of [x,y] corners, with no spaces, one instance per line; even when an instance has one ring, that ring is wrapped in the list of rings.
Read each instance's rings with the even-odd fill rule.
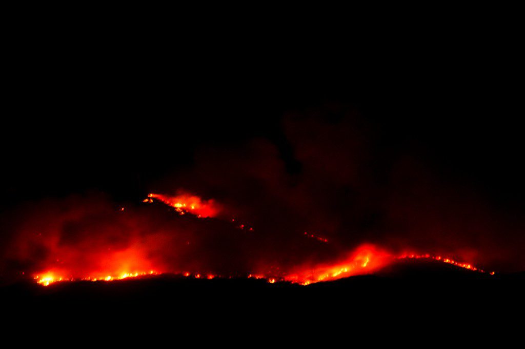
[[[148,194],[148,198],[143,202],[153,202],[153,199],[159,200],[173,208],[180,214],[192,213],[199,218],[216,217],[220,212],[219,205],[215,200],[202,200],[191,194],[181,194],[175,197],[163,194]]]

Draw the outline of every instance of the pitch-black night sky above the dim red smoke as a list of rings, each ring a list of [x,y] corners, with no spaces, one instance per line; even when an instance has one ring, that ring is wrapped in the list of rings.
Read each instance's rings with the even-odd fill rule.
[[[170,43],[29,31],[4,65],[2,196],[134,198],[196,148],[254,137],[298,171],[282,117],[339,105],[373,125],[379,146],[522,204],[520,59],[511,38],[478,34],[379,33],[353,47],[345,36]]]

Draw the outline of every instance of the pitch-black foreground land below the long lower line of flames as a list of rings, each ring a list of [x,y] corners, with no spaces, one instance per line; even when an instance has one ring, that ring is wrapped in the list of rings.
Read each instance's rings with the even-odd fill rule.
[[[429,330],[437,331],[434,335],[489,335],[499,326],[520,331],[524,286],[523,273],[492,276],[443,263],[404,261],[379,274],[309,286],[161,275],[47,287],[18,283],[0,292],[10,326],[46,331],[66,326],[83,333],[88,326],[128,333],[169,326],[177,333],[256,337],[275,331],[328,336],[378,328],[401,335]]]

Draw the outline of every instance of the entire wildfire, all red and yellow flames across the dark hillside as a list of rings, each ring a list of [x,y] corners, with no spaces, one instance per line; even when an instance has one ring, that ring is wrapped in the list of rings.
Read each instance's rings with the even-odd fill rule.
[[[169,197],[162,194],[151,193],[148,195],[148,198],[144,200],[144,202],[152,203],[154,200],[158,200],[170,207],[173,207],[180,214],[190,213],[191,215],[194,215],[198,218],[216,217],[220,212],[220,206],[214,200],[203,200],[191,194],[182,194],[175,197]],[[124,208],[122,207],[120,211],[123,210]],[[239,225],[236,219],[231,219],[231,221],[234,224],[237,224],[236,228],[238,229],[254,231],[253,228],[248,228],[245,224]],[[40,235],[41,234],[38,236]],[[318,240],[320,242],[328,242],[328,239],[309,232],[304,232],[304,236],[310,239]],[[148,242],[143,243],[148,244]],[[149,242],[150,245],[152,243],[153,241]],[[190,242],[186,241],[185,244],[190,245]],[[233,275],[226,274],[226,276],[224,276],[224,274],[220,275],[209,272],[212,270],[209,270],[208,272],[203,272],[202,270],[194,270],[192,272],[167,270],[161,272],[161,269],[165,269],[164,266],[160,266],[158,263],[152,262],[149,258],[149,255],[142,252],[140,246],[140,244],[137,244],[134,247],[130,247],[128,250],[119,252],[110,252],[110,249],[108,249],[107,252],[97,254],[96,261],[98,262],[98,265],[100,265],[100,268],[97,268],[97,272],[86,273],[86,270],[83,272],[79,270],[72,270],[74,268],[71,268],[70,270],[50,268],[47,272],[34,274],[34,279],[38,284],[48,286],[56,282],[65,281],[111,282],[128,278],[138,278],[139,276],[159,275],[162,273],[180,274],[185,277],[192,275],[195,279],[202,278],[208,280],[215,278],[231,279],[233,277]],[[451,258],[444,258],[441,255],[433,255],[428,253],[404,253],[402,255],[394,255],[375,245],[363,244],[355,249],[352,253],[332,263],[313,265],[302,264],[296,266],[295,268],[289,268],[288,270],[280,270],[279,268],[276,268],[274,271],[268,271],[267,273],[253,271],[253,274],[248,274],[247,278],[263,279],[271,284],[276,282],[290,282],[301,285],[309,285],[322,281],[332,281],[341,278],[347,278],[353,275],[374,273],[385,266],[394,263],[396,260],[402,259],[434,260],[451,264],[458,268],[485,273],[484,270],[477,268],[471,263],[458,262]],[[64,266],[65,268],[64,261],[62,259],[56,258],[56,262],[60,263],[60,265]],[[62,266],[60,268],[62,268]],[[129,271],[130,269],[135,271]],[[89,271],[89,269],[87,270]],[[495,272],[490,272],[489,274],[494,275]],[[237,274],[234,275],[238,276]]]

